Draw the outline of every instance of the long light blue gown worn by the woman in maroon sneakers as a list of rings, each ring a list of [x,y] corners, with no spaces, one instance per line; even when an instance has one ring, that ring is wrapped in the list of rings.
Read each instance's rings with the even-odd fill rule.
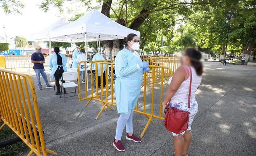
[[[116,56],[116,104],[118,113],[130,113],[135,109],[139,99],[143,68],[139,67],[142,63],[137,52],[123,49]]]

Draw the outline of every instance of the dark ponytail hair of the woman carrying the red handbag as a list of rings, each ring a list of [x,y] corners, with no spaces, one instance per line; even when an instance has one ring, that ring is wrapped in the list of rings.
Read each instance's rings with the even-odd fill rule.
[[[196,69],[196,74],[201,76],[203,74],[203,64],[200,61],[202,54],[194,48],[188,48],[185,55],[190,58],[192,66]]]

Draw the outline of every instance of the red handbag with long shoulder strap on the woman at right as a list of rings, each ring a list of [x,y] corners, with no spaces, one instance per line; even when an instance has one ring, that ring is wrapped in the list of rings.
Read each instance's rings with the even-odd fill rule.
[[[192,83],[192,72],[190,70],[190,84],[189,84],[189,93],[188,93],[188,108],[190,108],[190,96],[191,96],[191,83]],[[165,113],[165,120],[163,125],[168,131],[171,131],[176,134],[180,134],[188,129],[188,111],[182,111],[175,107],[170,107],[170,101],[166,107],[167,111]]]

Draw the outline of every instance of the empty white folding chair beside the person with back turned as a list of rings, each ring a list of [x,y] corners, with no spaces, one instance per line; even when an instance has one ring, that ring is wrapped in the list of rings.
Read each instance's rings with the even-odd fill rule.
[[[74,81],[75,80],[77,81],[77,79],[78,79],[78,72],[77,71],[68,71],[68,72],[64,72],[62,74],[60,98],[61,98],[62,92],[64,92],[64,88],[78,87],[78,84],[74,83]],[[63,81],[72,81],[72,82],[67,82],[67,83],[65,82],[65,83],[63,83]],[[75,93],[74,96],[76,96],[76,88],[75,88],[75,92],[69,92],[69,93]],[[69,94],[69,93],[66,93],[66,94]],[[68,97],[72,97],[72,96],[68,96]],[[66,101],[65,98],[66,97],[65,97],[65,93],[64,93],[64,100]]]

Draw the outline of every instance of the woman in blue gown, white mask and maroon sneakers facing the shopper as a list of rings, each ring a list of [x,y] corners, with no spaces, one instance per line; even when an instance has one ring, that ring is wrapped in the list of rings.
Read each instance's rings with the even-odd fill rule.
[[[117,120],[116,136],[113,146],[118,151],[125,151],[124,145],[121,143],[121,137],[126,125],[126,139],[140,143],[142,140],[133,134],[132,112],[135,109],[139,99],[143,72],[148,72],[148,62],[142,62],[139,54],[140,43],[136,34],[129,34],[124,38],[124,44],[127,46],[116,56],[116,76],[115,93],[117,113],[120,117]]]

